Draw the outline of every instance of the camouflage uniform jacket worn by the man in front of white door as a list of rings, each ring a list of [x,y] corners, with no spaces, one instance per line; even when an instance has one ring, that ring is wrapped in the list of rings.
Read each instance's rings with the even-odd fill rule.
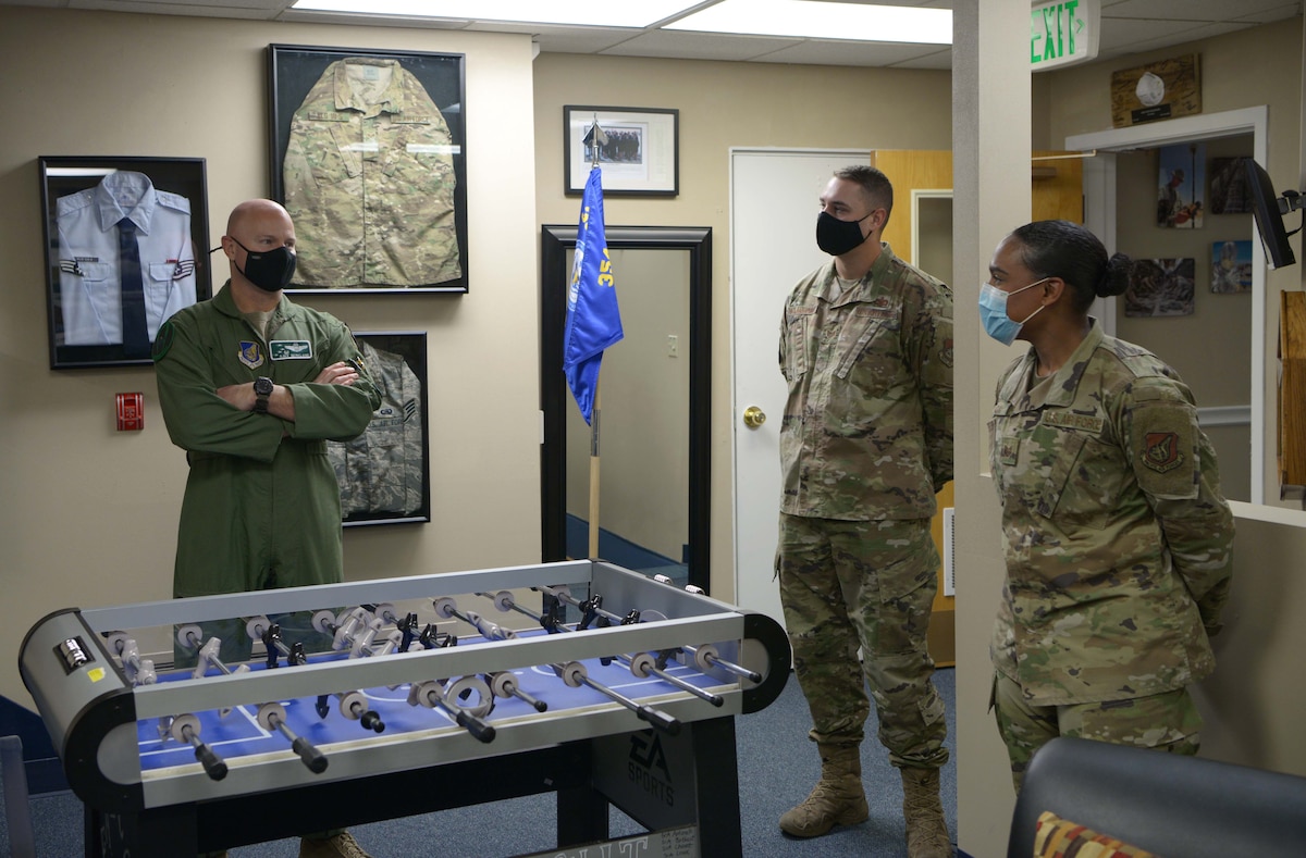
[[[781,512],[927,519],[952,479],[952,289],[884,244],[836,292],[831,261],[785,304]]]

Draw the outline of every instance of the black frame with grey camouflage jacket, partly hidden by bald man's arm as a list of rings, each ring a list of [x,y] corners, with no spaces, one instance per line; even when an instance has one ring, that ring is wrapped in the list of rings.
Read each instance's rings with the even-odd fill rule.
[[[430,390],[426,333],[355,333],[381,404],[358,438],[328,441],[340,484],[341,524],[431,520]]]

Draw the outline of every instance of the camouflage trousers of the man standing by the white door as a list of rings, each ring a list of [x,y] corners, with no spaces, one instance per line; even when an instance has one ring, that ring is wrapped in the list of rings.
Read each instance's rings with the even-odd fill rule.
[[[948,726],[926,648],[939,570],[929,519],[781,515],[776,570],[794,674],[811,709],[810,738],[861,743],[871,711],[868,682],[889,762],[899,768],[947,763]]]

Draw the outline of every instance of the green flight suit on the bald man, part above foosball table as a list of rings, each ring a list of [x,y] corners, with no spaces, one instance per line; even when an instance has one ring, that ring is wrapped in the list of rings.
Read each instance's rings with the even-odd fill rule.
[[[353,386],[323,368],[359,360],[326,313],[282,297],[266,339],[236,309],[230,282],[179,310],[154,340],[159,406],[191,466],[178,528],[175,596],[340,582],[340,486],[326,438],[367,428],[380,398],[366,369]],[[266,376],[290,389],[294,421],[240,411],[215,391]]]

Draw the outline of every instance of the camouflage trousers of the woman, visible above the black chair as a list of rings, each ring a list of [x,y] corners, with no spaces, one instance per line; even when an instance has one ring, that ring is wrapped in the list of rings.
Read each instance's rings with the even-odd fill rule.
[[[1015,679],[995,672],[990,704],[1007,746],[1017,794],[1034,752],[1058,735],[1185,756],[1196,756],[1202,745],[1202,715],[1187,688],[1104,703],[1032,705]]]

